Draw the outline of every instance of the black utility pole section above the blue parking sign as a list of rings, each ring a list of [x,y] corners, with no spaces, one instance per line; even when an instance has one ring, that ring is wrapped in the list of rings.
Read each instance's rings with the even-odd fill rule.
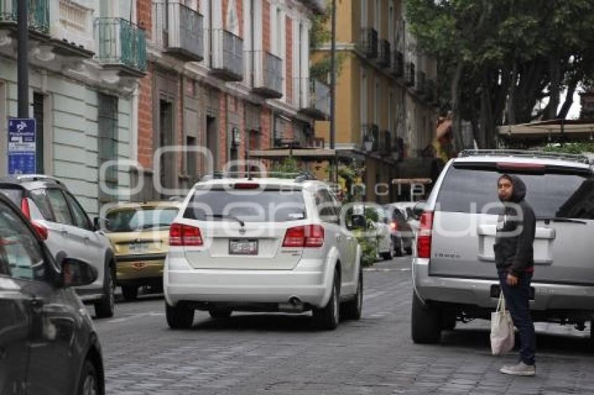
[[[29,118],[29,1],[20,0],[17,3],[18,117]]]

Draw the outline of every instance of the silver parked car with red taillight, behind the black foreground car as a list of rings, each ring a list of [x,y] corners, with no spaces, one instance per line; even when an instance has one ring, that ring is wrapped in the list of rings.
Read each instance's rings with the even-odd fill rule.
[[[92,284],[77,287],[85,303],[94,304],[97,318],[113,316],[115,255],[108,238],[99,230],[68,188],[53,177],[22,175],[0,179],[6,194],[31,221],[54,257],[64,251],[68,257],[92,264],[98,276]]]

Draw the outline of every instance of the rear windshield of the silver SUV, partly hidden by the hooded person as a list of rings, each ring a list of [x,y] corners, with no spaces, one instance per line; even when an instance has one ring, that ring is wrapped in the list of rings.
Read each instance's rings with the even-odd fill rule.
[[[437,195],[437,209],[460,213],[499,212],[497,181],[502,172],[451,166]],[[575,172],[516,174],[537,218],[594,219],[594,179]],[[488,209],[490,207],[490,209]]]

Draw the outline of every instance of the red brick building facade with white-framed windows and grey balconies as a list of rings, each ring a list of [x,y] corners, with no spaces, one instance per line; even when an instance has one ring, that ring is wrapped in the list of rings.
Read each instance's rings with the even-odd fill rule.
[[[148,42],[138,85],[134,200],[167,198],[252,150],[311,144],[310,29],[324,1],[136,1]],[[327,96],[327,95],[326,95]],[[173,149],[168,147],[176,146]]]

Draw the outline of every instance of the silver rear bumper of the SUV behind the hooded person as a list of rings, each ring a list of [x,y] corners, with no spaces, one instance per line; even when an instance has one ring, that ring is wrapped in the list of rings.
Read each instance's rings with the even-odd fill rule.
[[[495,267],[493,267],[495,275]],[[477,278],[448,278],[429,276],[429,260],[414,258],[412,263],[414,291],[423,301],[470,304],[481,308],[495,308],[497,299],[491,297],[491,286],[498,280]],[[593,311],[594,287],[533,282],[535,299],[530,301],[533,311]]]

